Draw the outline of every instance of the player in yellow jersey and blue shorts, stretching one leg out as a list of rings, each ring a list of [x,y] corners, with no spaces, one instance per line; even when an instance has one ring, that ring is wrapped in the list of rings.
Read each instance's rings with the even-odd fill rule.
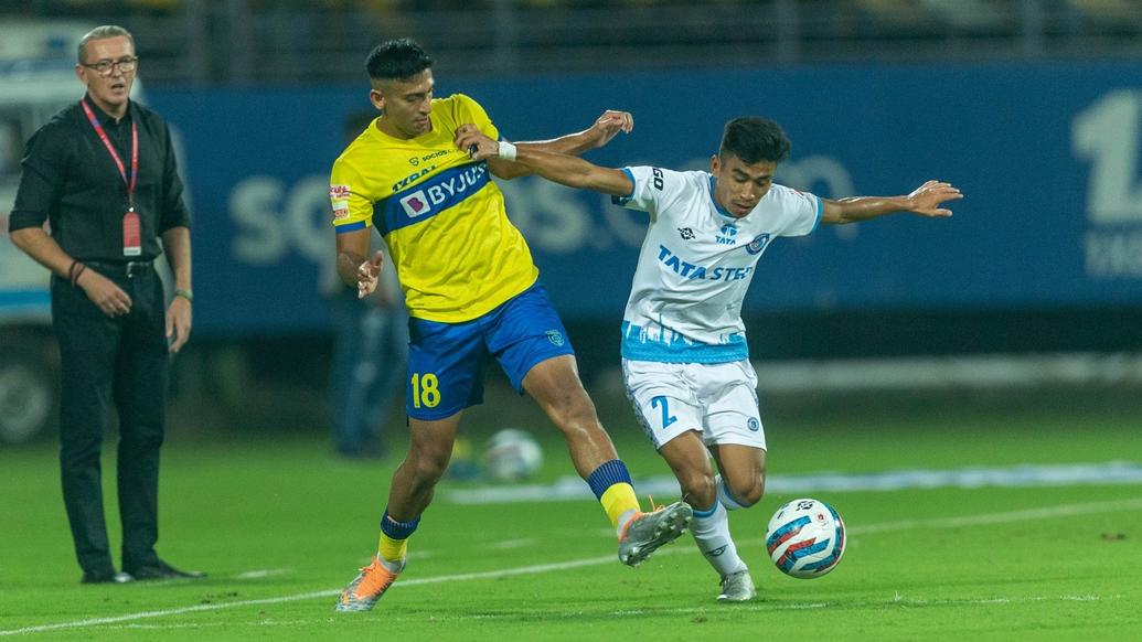
[[[333,163],[337,271],[360,296],[377,287],[384,256],[369,256],[369,227],[376,227],[411,316],[411,443],[393,474],[377,555],[341,592],[337,610],[371,609],[404,570],[408,538],[448,467],[464,409],[482,401],[483,369],[493,358],[563,432],[576,470],[616,528],[619,560],[637,565],[681,536],[692,511],[681,501],[640,511],[539,270],[491,182],[490,174],[514,178],[529,170],[500,159],[474,162],[456,147],[461,125],[474,123],[492,139],[499,131],[472,98],[433,97],[432,58],[416,42],[383,42],[367,67],[380,117]],[[609,111],[585,131],[518,145],[579,154],[630,127],[630,114]]]

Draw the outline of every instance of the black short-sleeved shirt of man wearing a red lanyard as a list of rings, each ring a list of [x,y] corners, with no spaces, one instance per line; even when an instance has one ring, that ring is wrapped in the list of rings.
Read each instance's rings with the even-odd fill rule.
[[[80,260],[151,260],[162,254],[159,234],[190,226],[170,129],[159,114],[131,101],[115,122],[85,98],[130,174],[131,122],[138,123],[135,211],[143,254],[123,256],[127,184],[79,102],[64,109],[27,142],[10,231],[51,224],[51,236]]]

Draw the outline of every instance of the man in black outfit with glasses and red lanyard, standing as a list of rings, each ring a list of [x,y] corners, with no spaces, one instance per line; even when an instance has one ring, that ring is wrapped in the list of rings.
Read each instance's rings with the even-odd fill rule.
[[[9,222],[13,242],[53,273],[59,464],[75,554],[83,583],[201,577],[154,549],[168,350],[178,352],[190,336],[194,296],[183,184],[167,123],[130,101],[138,66],[131,34],[97,27],[80,40],[78,59],[87,94],[29,141]],[[153,267],[163,251],[175,275],[166,311]],[[99,481],[108,402],[120,424],[124,572],[111,560]]]

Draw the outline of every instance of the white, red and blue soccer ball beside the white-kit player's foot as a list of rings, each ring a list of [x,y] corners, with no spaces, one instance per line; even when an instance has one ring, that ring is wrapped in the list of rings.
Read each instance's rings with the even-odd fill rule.
[[[845,553],[845,523],[825,501],[794,499],[770,519],[765,547],[781,572],[799,579],[821,577]]]

